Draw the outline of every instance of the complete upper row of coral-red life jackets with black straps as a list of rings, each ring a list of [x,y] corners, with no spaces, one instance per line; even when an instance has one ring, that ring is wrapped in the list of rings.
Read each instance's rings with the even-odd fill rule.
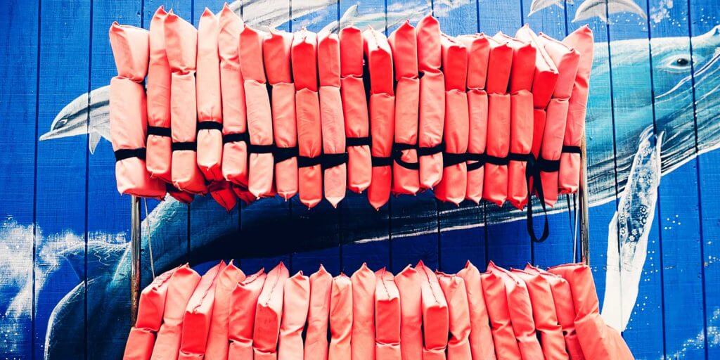
[[[431,16],[389,37],[263,32],[226,5],[197,29],[161,7],[149,31],[116,22],[109,37],[122,194],[210,193],[230,210],[237,198],[295,194],[335,207],[350,189],[377,209],[432,189],[444,202],[518,209],[536,194],[545,209],[580,183],[587,26],[562,41],[527,25],[515,37],[450,37]]]

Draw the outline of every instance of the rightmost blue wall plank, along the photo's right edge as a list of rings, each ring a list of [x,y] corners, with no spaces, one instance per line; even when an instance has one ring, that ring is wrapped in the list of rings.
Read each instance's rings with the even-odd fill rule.
[[[705,314],[703,318],[703,331],[701,333],[687,333],[683,343],[695,344],[691,341],[702,337],[706,341],[706,359],[716,359],[720,356],[720,348],[716,346],[714,328],[718,325],[718,313],[720,311],[720,266],[717,259],[720,257],[720,245],[714,239],[720,235],[720,215],[718,215],[717,204],[720,201],[720,179],[718,161],[720,153],[716,148],[718,139],[713,131],[717,119],[717,104],[713,96],[716,93],[713,81],[706,78],[706,74],[717,71],[717,64],[711,66],[708,71],[703,71],[709,61],[716,58],[718,46],[718,22],[711,18],[710,14],[720,12],[720,4],[716,1],[693,0],[690,1],[688,9],[688,30],[690,32],[690,53],[693,63],[691,69],[693,76],[693,102],[696,113],[696,153],[702,154],[698,158],[698,194],[700,195],[701,214],[701,277],[703,279],[703,307]],[[677,61],[677,60],[676,60]],[[711,71],[709,71],[711,70]],[[705,76],[703,76],[705,75]],[[710,152],[708,152],[710,151]],[[695,253],[696,255],[697,253]],[[688,263],[690,258],[687,258]],[[694,272],[694,271],[693,271]],[[689,274],[689,276],[693,276]],[[696,300],[693,307],[699,307]]]

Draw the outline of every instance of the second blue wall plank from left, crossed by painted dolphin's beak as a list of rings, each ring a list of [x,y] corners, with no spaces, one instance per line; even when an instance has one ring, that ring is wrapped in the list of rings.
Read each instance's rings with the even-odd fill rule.
[[[78,95],[85,94],[89,87],[90,2],[76,1],[72,5],[45,2],[40,9],[42,36],[37,128],[42,133],[50,130],[60,109]],[[86,99],[86,95],[82,96],[79,102],[86,102]],[[87,117],[86,110],[81,110],[65,124],[72,122],[82,127]],[[36,242],[35,253],[33,336],[38,345],[34,349],[36,359],[42,359],[46,354],[59,357],[84,357],[86,354],[87,146],[86,135],[37,144],[36,226],[37,234],[42,231],[43,236]],[[66,253],[59,255],[60,250],[66,250]],[[73,294],[66,297],[70,292]],[[60,332],[53,332],[54,326],[48,329],[51,315],[63,297],[68,300],[63,306],[73,312],[73,318],[68,319],[74,325],[73,336],[63,333],[68,328]],[[55,317],[53,320],[63,321]],[[50,348],[45,348],[41,344],[45,343],[48,333],[52,333],[53,343]]]

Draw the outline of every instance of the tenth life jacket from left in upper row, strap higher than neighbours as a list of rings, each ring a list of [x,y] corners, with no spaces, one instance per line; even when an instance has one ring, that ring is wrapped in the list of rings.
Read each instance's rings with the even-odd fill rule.
[[[348,150],[348,189],[361,193],[372,181],[370,127],[363,83],[363,37],[357,27],[340,30],[340,95]]]

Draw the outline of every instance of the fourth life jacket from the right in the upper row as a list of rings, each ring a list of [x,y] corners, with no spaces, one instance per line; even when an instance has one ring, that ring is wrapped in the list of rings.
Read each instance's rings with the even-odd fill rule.
[[[510,71],[510,154],[508,155],[508,201],[518,209],[528,203],[527,167],[533,141],[533,95],[536,49],[529,43],[499,32],[498,42],[513,48]],[[533,161],[534,163],[534,161]]]

